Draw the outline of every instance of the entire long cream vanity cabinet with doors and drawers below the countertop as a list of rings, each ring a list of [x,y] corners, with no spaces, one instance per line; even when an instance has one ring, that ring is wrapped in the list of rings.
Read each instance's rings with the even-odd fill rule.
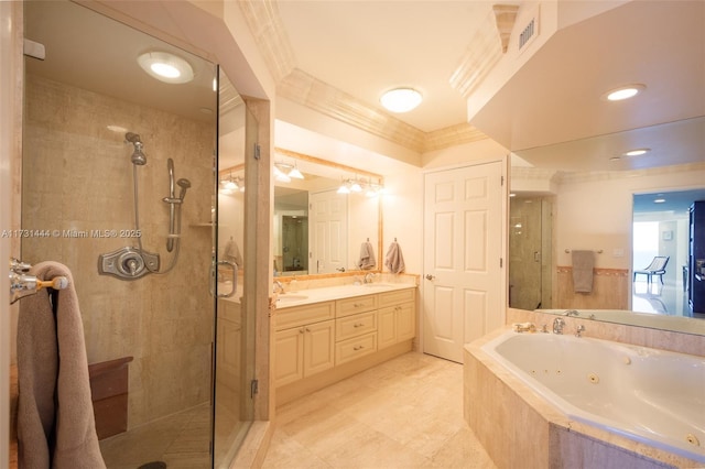
[[[274,313],[276,402],[301,397],[413,348],[416,288]]]

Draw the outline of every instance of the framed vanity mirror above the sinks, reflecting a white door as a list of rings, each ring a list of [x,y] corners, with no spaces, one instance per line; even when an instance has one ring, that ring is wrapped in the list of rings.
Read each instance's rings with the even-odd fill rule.
[[[275,149],[273,165],[275,276],[359,271],[367,242],[376,258],[368,270],[381,271],[381,175],[286,149]]]

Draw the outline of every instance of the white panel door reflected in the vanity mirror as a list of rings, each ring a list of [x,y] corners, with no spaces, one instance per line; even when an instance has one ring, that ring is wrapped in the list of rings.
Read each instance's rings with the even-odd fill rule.
[[[334,273],[347,269],[348,198],[336,190],[312,193],[308,198],[311,273]]]

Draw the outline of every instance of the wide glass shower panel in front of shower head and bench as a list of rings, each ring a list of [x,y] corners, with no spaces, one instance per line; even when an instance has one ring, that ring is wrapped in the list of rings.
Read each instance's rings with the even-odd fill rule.
[[[70,270],[91,384],[124,372],[94,388],[102,457],[209,468],[217,68],[75,2],[24,13],[46,58],[25,58],[22,228],[47,236],[23,239],[21,257]],[[134,52],[152,50],[193,80],[148,75]]]

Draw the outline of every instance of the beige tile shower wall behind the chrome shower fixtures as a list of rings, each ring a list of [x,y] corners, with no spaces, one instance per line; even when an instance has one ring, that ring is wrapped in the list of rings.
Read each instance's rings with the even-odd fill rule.
[[[176,85],[174,85],[176,86]],[[23,223],[59,236],[23,240],[29,262],[55,260],[74,275],[89,362],[133,356],[129,426],[207,402],[213,299],[208,294],[215,124],[196,122],[35,76],[26,79]],[[99,275],[98,255],[134,238],[70,238],[68,232],[134,228],[131,145],[117,124],[139,133],[148,163],[138,167],[145,250],[162,269],[169,208],[166,160],[191,181],[182,214],[178,263],[137,281]],[[176,187],[178,190],[178,187]]]

